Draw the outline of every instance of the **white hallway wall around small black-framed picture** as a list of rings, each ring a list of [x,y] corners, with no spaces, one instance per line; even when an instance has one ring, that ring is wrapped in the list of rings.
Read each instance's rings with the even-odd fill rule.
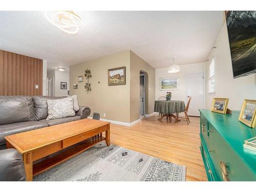
[[[61,72],[58,70],[48,71],[49,79],[54,79],[51,83],[51,96],[69,96],[68,91],[70,90],[69,72]],[[60,89],[60,82],[67,82],[67,89]],[[54,88],[53,88],[54,84]],[[48,92],[49,93],[49,92]]]

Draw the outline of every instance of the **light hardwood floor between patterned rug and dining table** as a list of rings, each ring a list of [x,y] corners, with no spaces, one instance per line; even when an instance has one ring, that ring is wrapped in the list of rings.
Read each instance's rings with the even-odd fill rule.
[[[111,143],[186,166],[186,181],[207,181],[200,153],[199,117],[174,123],[145,117],[133,126],[111,123]]]

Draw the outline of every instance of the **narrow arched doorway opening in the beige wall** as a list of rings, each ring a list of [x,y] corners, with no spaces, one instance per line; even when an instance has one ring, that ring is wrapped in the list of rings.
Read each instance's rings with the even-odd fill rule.
[[[146,76],[140,71],[140,116],[146,112]]]

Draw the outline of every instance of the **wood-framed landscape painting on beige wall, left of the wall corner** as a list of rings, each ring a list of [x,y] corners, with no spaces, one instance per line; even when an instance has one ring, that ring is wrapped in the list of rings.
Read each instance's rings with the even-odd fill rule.
[[[125,67],[119,67],[108,70],[108,85],[120,86],[125,84]]]

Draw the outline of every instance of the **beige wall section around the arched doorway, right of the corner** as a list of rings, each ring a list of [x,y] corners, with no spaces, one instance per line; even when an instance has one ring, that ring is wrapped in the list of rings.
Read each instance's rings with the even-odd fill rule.
[[[146,61],[130,52],[131,60],[131,92],[130,116],[131,122],[140,118],[140,71],[146,72],[146,114],[154,112],[155,102],[155,69]]]

